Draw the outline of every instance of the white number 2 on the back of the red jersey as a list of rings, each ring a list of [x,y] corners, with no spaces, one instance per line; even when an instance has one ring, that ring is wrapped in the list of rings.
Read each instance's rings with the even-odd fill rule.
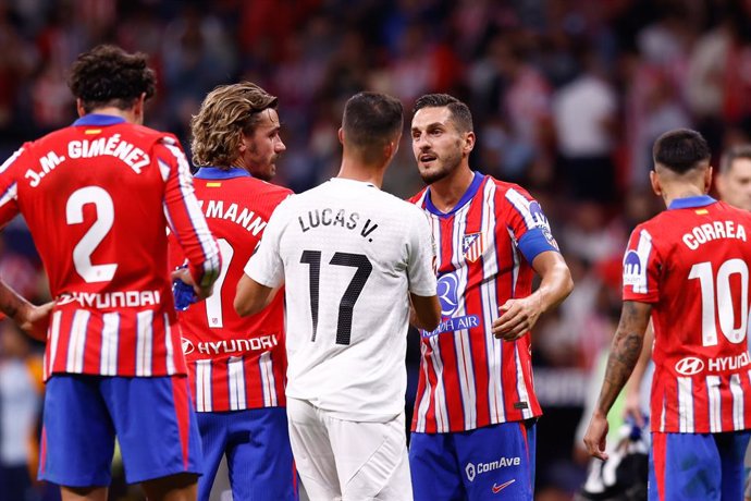
[[[87,283],[109,282],[114,277],[118,265],[114,262],[94,265],[91,264],[91,254],[112,229],[114,204],[110,194],[99,186],[86,186],[76,190],[65,204],[65,222],[67,224],[84,222],[84,206],[86,204],[94,204],[97,219],[73,247],[73,266]]]

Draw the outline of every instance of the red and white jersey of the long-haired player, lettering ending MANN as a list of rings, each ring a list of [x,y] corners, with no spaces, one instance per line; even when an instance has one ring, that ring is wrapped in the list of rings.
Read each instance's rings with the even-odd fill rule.
[[[292,192],[254,179],[237,168],[201,168],[196,197],[222,252],[213,294],[178,311],[183,351],[198,412],[242,411],[285,405],[284,292],[250,317],[233,302],[243,268],[263,235],[274,208]],[[172,267],[184,261],[170,237]]]

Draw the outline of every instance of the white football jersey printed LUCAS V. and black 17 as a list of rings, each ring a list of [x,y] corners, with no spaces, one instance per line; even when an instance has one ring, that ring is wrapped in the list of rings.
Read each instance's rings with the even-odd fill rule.
[[[284,200],[245,273],[285,283],[287,396],[343,419],[404,411],[411,292],[435,295],[428,220],[370,183],[334,178]]]

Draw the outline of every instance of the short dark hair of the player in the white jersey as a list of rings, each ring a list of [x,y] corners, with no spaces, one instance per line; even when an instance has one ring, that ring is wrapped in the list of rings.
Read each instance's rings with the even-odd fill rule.
[[[344,140],[356,147],[366,162],[379,160],[383,146],[404,126],[402,101],[385,94],[359,93],[344,106]]]

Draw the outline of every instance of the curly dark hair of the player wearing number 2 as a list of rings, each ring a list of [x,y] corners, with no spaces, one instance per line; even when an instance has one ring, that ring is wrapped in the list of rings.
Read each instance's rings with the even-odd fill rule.
[[[156,84],[146,54],[128,53],[110,45],[79,54],[67,78],[67,86],[87,113],[106,106],[126,110],[144,93],[147,99],[151,98]]]

